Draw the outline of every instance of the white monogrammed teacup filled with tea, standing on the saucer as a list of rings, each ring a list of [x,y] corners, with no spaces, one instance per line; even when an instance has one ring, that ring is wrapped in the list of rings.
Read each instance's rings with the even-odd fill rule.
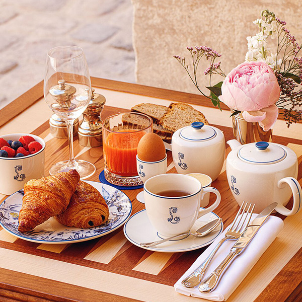
[[[221,199],[217,189],[202,189],[196,178],[184,174],[157,175],[149,178],[143,187],[147,216],[163,238],[188,232],[195,221],[214,210]],[[187,194],[169,197],[161,195],[164,191],[182,191]],[[201,209],[201,199],[208,192],[214,193],[216,200],[208,208]]]

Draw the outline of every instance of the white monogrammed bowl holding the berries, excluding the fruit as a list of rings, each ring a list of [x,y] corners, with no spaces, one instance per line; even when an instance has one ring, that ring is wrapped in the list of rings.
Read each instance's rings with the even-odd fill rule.
[[[0,193],[11,195],[23,189],[30,179],[44,176],[45,142],[33,134],[15,133],[2,135],[4,139],[18,140],[23,135],[30,135],[42,145],[37,153],[20,158],[0,157]]]

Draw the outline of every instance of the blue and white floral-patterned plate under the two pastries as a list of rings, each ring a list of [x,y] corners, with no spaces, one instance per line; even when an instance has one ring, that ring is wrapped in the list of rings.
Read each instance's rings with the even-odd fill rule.
[[[31,242],[47,244],[82,242],[113,232],[130,217],[132,211],[130,199],[125,193],[109,185],[94,181],[86,182],[95,187],[106,200],[110,213],[106,223],[91,229],[79,229],[63,225],[51,217],[36,226],[33,231],[23,234],[18,231],[18,217],[24,195],[23,190],[21,190],[9,196],[0,205],[0,225],[13,236]]]

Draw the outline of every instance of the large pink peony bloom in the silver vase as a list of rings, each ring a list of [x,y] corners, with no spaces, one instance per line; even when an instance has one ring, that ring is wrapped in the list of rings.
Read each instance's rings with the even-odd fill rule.
[[[241,111],[246,121],[259,122],[264,131],[274,126],[280,87],[274,71],[265,62],[238,65],[224,79],[221,93],[219,100]]]

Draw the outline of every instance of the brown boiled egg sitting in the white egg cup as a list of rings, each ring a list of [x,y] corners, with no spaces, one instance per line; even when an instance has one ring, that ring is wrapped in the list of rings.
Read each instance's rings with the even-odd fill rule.
[[[137,145],[137,156],[144,162],[157,162],[164,159],[166,148],[161,137],[155,133],[145,134]]]

